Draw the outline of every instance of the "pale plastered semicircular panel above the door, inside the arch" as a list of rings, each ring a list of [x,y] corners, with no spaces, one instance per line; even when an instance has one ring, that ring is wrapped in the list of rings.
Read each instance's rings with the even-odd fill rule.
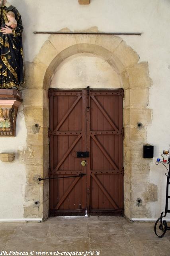
[[[79,53],[66,58],[56,69],[51,88],[121,88],[118,74],[94,54]]]

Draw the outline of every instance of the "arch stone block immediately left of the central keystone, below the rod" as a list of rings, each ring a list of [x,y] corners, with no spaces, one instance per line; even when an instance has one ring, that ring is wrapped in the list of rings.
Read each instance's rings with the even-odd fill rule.
[[[56,34],[49,37],[49,41],[56,49],[57,54],[65,50],[66,48],[75,45],[76,38],[73,34]]]

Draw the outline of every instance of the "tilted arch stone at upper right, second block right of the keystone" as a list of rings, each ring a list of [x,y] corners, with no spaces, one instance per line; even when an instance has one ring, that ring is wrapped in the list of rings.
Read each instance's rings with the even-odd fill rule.
[[[130,46],[127,46],[124,41],[115,49],[114,54],[125,67],[134,66],[140,59],[139,55]]]

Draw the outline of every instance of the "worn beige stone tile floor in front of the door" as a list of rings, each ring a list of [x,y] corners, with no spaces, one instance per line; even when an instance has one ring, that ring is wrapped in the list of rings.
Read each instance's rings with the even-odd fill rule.
[[[170,256],[170,231],[158,238],[154,223],[109,216],[52,217],[42,223],[6,222],[0,223],[0,255],[5,255],[2,250],[7,254],[16,250],[29,252],[28,255],[30,251],[34,255],[57,251],[85,255],[86,251],[94,251],[96,256],[96,251],[100,251],[100,256]]]

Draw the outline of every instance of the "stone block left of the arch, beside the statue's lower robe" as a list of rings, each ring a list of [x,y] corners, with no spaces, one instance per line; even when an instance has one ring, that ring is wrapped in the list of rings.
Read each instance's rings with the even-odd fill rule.
[[[22,84],[24,88],[39,89],[42,88],[43,79],[47,68],[41,64],[35,64],[33,62],[26,61],[25,67],[25,84]]]

